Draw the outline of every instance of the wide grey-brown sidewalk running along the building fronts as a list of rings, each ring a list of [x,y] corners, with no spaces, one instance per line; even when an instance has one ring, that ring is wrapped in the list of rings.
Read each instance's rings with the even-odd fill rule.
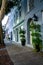
[[[43,65],[43,52],[33,52],[28,47],[6,46],[14,65]]]

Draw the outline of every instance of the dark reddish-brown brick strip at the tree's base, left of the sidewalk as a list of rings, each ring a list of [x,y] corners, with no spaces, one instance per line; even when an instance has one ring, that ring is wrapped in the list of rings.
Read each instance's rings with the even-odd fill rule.
[[[14,65],[3,45],[0,45],[0,65]]]

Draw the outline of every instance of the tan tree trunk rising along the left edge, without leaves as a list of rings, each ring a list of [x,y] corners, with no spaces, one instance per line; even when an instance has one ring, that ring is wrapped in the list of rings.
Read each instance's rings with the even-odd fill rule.
[[[5,9],[7,6],[7,0],[2,0],[2,6],[1,6],[1,10],[0,10],[0,44],[3,44],[3,32],[2,32],[2,19],[5,15]]]

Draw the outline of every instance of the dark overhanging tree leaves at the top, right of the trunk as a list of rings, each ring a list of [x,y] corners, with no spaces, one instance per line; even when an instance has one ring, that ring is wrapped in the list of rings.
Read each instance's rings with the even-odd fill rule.
[[[12,1],[11,0],[8,0],[7,1],[6,13],[5,14],[9,13],[10,12],[10,9],[13,8],[13,6],[19,6],[20,1],[21,0],[12,0]]]

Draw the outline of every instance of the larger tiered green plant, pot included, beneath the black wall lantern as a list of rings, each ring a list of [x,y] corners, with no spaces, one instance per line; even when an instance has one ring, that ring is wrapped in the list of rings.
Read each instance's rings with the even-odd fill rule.
[[[39,24],[35,24],[34,22],[30,23],[30,31],[32,32],[32,44],[37,51],[40,51],[42,48],[42,40],[41,40],[41,29]]]

